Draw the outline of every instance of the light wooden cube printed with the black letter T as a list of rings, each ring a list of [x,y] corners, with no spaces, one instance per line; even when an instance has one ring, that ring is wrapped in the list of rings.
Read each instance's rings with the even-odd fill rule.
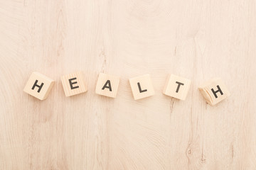
[[[163,94],[185,100],[188,94],[189,87],[191,85],[190,79],[175,76],[174,74],[169,75],[166,84],[164,86]]]

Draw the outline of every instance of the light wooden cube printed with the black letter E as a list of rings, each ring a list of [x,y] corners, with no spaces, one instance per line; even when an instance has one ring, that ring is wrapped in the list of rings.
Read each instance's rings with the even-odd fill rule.
[[[87,91],[82,72],[75,72],[61,77],[65,96],[74,96]]]

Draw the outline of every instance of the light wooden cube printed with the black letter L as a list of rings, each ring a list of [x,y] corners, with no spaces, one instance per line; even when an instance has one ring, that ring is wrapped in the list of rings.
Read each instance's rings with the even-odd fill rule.
[[[129,79],[134,100],[154,95],[154,87],[149,74]]]

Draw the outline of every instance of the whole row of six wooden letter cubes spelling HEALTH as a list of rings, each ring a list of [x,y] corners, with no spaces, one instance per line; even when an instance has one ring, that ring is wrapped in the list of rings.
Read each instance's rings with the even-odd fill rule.
[[[82,72],[65,75],[61,77],[61,81],[65,96],[73,96],[87,91]],[[31,94],[31,96],[44,100],[50,93],[53,84],[53,79],[38,72],[33,72],[23,91]],[[153,96],[155,93],[149,74],[129,79],[129,84],[135,100]],[[171,74],[166,81],[163,94],[185,100],[190,85],[191,80]],[[115,98],[117,96],[118,86],[119,77],[100,73],[95,93]],[[212,106],[230,96],[228,89],[220,78],[207,81],[206,84],[199,87],[199,90],[203,94],[203,97],[206,98],[206,101]]]

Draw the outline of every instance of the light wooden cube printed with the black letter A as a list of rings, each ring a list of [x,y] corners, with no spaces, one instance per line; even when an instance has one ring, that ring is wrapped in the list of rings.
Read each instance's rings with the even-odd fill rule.
[[[119,77],[100,73],[95,89],[96,94],[115,98],[119,86]]]

